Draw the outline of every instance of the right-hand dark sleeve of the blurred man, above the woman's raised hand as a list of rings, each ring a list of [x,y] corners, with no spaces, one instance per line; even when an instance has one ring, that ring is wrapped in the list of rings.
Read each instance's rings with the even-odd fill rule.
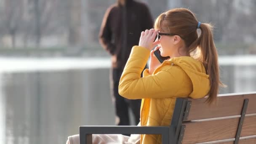
[[[146,29],[152,29],[153,25],[153,19],[149,11],[149,8],[147,5],[144,5],[144,20],[141,27],[141,31],[145,31]]]

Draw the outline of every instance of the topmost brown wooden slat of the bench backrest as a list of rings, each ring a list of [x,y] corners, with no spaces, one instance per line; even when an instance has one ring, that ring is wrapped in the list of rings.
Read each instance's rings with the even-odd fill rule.
[[[218,96],[216,104],[212,105],[205,104],[206,98],[189,99],[192,106],[186,121],[240,115],[244,99],[249,99],[246,114],[256,114],[256,94]]]

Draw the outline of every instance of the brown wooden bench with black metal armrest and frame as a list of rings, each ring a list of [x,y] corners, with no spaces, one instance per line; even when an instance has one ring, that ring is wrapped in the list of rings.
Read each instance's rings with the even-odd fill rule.
[[[256,144],[256,92],[176,100],[170,126],[80,126],[80,144],[91,134],[161,134],[163,144]],[[86,143],[85,143],[86,142]]]

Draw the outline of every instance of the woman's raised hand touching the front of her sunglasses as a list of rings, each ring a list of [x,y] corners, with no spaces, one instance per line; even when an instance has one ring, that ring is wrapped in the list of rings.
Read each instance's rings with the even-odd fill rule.
[[[139,46],[147,48],[150,51],[155,45],[159,43],[158,41],[155,41],[157,32],[158,30],[155,30],[155,29],[150,29],[150,30],[147,29],[145,30],[145,32],[141,32],[141,37],[139,39]]]

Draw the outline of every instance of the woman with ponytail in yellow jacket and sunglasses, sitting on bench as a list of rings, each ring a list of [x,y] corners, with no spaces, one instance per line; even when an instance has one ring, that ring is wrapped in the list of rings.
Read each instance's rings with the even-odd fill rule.
[[[197,29],[201,30],[200,37]],[[155,37],[157,40],[155,40]],[[155,41],[155,42],[154,42]],[[151,49],[158,45],[154,50]],[[154,56],[170,59],[161,64]],[[149,69],[140,74],[150,56]],[[139,46],[133,46],[119,83],[119,93],[127,99],[142,99],[142,126],[170,125],[176,98],[216,99],[219,85],[218,54],[210,24],[197,21],[186,8],[160,14],[155,29],[141,32]],[[161,144],[160,135],[94,135],[93,143]]]

